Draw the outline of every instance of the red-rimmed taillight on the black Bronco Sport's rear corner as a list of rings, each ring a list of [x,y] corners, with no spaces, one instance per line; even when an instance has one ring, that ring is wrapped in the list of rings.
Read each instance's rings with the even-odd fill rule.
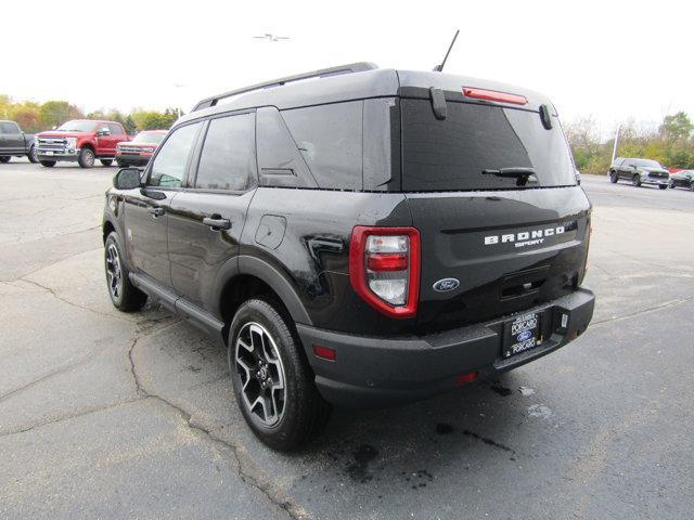
[[[420,298],[420,232],[358,225],[349,246],[349,281],[367,303],[391,317],[413,317]]]

